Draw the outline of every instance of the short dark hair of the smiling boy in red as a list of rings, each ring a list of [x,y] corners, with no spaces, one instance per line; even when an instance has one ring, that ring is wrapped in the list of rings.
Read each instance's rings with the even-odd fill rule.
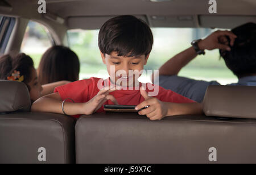
[[[98,35],[98,46],[104,54],[118,56],[148,55],[154,43],[152,31],[143,20],[121,15],[105,22]]]

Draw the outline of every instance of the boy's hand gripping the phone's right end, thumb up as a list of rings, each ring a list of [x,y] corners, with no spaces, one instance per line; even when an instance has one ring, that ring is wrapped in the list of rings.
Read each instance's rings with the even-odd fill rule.
[[[147,115],[150,120],[160,120],[167,116],[168,106],[165,102],[159,101],[157,98],[148,97],[146,90],[141,87],[141,95],[145,99],[141,104],[135,107],[135,110],[143,109],[145,106],[150,106],[147,109],[139,111],[139,115]]]

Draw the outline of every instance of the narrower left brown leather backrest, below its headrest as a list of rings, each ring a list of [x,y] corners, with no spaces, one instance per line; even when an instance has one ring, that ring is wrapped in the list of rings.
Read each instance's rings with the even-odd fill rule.
[[[75,163],[75,120],[47,113],[0,114],[0,164]],[[40,161],[39,148],[46,148]]]

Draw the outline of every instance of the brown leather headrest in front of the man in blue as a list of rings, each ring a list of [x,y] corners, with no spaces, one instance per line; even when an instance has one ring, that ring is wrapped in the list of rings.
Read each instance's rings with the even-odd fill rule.
[[[256,87],[209,86],[203,106],[207,116],[256,119]]]

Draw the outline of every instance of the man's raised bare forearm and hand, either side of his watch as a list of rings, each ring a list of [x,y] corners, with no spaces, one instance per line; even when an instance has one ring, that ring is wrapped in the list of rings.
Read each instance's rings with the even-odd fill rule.
[[[220,39],[223,36],[228,36],[230,38],[230,45],[234,44],[234,40],[237,38],[230,31],[216,31],[209,35],[204,40],[199,41],[199,48],[203,51],[205,49],[211,51],[213,49],[224,49],[230,51],[230,47],[225,44],[220,43]],[[191,60],[195,59],[197,53],[193,47],[179,53],[178,55],[172,57],[159,69],[159,76],[175,76],[180,70],[187,65]],[[152,76],[152,78],[154,78]]]

